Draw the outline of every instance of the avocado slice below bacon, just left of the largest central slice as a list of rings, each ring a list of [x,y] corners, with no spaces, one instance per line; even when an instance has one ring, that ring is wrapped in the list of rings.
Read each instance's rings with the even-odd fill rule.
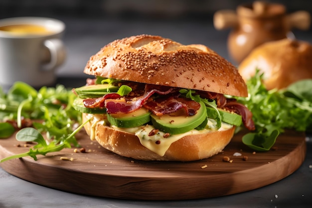
[[[151,111],[146,108],[140,108],[132,113],[107,113],[108,121],[117,127],[132,128],[142,126],[151,121]]]

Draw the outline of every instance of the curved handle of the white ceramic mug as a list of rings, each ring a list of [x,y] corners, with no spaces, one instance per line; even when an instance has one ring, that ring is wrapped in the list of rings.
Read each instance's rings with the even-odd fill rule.
[[[50,52],[50,61],[43,65],[44,71],[54,70],[57,66],[64,63],[66,49],[62,40],[58,38],[47,39],[43,44]]]

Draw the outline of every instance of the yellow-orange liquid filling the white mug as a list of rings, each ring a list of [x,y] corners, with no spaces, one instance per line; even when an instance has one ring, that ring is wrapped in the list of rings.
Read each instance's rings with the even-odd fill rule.
[[[0,31],[10,32],[14,35],[46,35],[52,31],[46,27],[36,24],[15,24],[0,26]]]

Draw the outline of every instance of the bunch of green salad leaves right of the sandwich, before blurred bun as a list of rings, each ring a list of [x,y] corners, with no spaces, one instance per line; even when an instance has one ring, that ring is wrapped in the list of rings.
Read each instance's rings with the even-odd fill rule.
[[[263,74],[256,70],[246,84],[248,97],[234,97],[253,114],[256,130],[243,137],[243,143],[267,151],[286,129],[312,130],[312,79],[298,81],[286,89],[267,90]]]

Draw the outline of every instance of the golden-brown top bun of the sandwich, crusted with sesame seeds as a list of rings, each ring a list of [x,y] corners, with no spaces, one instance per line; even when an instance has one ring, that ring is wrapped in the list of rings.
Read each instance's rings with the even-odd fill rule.
[[[154,35],[115,40],[91,56],[84,73],[216,92],[248,95],[237,69],[223,57],[201,44],[182,45]]]

